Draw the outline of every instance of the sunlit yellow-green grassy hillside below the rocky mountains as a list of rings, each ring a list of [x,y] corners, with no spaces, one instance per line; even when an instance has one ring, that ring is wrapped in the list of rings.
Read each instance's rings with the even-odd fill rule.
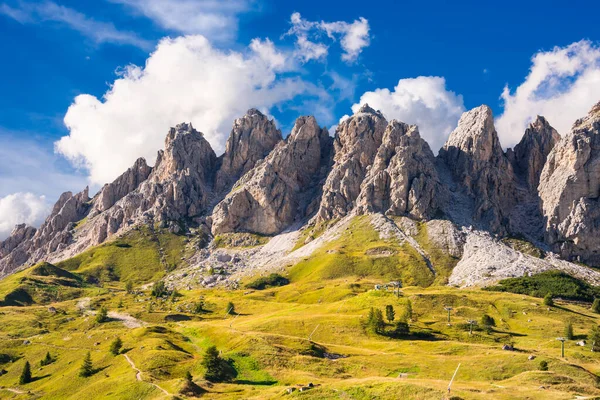
[[[434,254],[420,229],[420,245]],[[207,399],[440,399],[459,364],[455,398],[600,396],[600,354],[590,351],[587,339],[600,318],[589,307],[561,300],[547,307],[529,296],[535,293],[508,289],[440,286],[443,279],[431,274],[418,253],[380,239],[368,220],[356,219],[337,240],[281,272],[289,279],[283,286],[185,290],[156,298],[141,285],[165,273],[161,260],[182,262],[188,251],[186,238],[162,235],[157,244],[151,232],[135,231],[57,266],[40,264],[0,282],[0,296],[29,285],[33,299],[0,307],[0,398],[193,398],[185,394],[189,372]],[[432,255],[437,271],[443,271],[440,265],[451,270],[453,260],[444,257]],[[551,280],[531,278],[537,284]],[[392,279],[405,284],[400,296],[375,289]],[[37,281],[56,287],[60,296],[40,301],[48,290],[38,291],[41,284],[32,283]],[[128,281],[135,282],[131,293]],[[227,313],[230,303],[235,311]],[[394,308],[394,321],[385,320],[376,333],[368,315],[375,308],[385,317],[386,306]],[[108,320],[98,322],[102,308]],[[396,322],[409,309],[410,332],[398,335]],[[494,326],[482,325],[484,315]],[[479,322],[472,334],[469,320]],[[565,343],[562,358],[556,337],[563,336],[566,322],[574,339]],[[112,355],[117,337],[123,351]],[[582,339],[588,340],[585,347],[576,344]],[[237,371],[232,382],[204,379],[204,354],[213,345]],[[42,366],[47,352],[53,362]],[[79,369],[88,352],[94,371],[84,378]],[[26,361],[33,381],[19,384]]]

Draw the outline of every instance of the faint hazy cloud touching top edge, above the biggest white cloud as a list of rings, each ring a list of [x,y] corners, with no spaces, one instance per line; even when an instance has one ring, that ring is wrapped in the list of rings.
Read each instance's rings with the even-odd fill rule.
[[[110,0],[126,5],[162,28],[198,34],[213,41],[235,39],[237,15],[251,9],[252,0]]]

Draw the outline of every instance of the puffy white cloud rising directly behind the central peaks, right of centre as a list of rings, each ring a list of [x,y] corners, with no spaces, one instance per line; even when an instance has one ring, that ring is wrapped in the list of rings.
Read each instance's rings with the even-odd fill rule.
[[[366,92],[352,106],[352,111],[357,112],[365,103],[380,110],[388,120],[418,125],[421,137],[435,154],[465,111],[462,96],[447,90],[446,80],[439,76],[400,79],[393,91],[376,89]],[[346,117],[342,117],[340,122]]]

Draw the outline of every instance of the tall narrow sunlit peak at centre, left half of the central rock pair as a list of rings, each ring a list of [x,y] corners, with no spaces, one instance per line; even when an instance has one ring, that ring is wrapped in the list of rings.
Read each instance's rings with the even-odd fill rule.
[[[340,123],[334,140],[334,165],[323,186],[317,221],[343,217],[354,208],[386,126],[383,114],[367,104]]]

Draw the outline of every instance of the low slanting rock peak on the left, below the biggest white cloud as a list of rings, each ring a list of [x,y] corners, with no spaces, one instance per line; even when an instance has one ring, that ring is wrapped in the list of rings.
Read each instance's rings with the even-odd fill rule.
[[[148,166],[146,159],[143,157],[138,158],[131,168],[127,169],[112,183],[107,183],[102,187],[94,200],[94,205],[89,216],[93,217],[108,210],[128,193],[137,189],[148,178],[150,172],[152,172],[152,168]]]

